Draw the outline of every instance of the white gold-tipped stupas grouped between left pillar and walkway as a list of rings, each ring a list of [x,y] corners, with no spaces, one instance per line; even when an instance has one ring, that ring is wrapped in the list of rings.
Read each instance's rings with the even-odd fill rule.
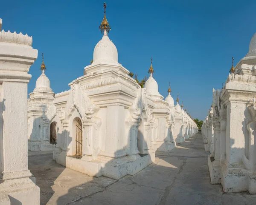
[[[198,127],[179,99],[174,105],[170,88],[163,100],[152,61],[145,88],[118,63],[105,7],[93,61],[70,90],[54,94],[43,59],[28,99],[28,148],[52,150],[57,163],[82,173],[119,179],[154,162],[156,151],[171,151]]]

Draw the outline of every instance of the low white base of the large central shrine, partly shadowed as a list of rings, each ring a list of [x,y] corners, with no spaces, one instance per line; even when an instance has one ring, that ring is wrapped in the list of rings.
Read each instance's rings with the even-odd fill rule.
[[[85,161],[83,159],[66,156],[65,154],[65,152],[58,154],[56,151],[53,151],[53,159],[56,160],[58,164],[81,173],[94,177],[105,176],[112,179],[120,179],[127,174],[134,175],[155,160],[154,152],[135,160],[131,160],[129,157],[121,157],[111,159],[110,161],[104,158],[101,160]]]

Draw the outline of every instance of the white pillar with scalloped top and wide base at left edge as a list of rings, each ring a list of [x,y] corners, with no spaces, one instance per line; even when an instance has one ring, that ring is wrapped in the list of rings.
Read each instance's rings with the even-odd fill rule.
[[[38,55],[31,45],[32,37],[0,32],[0,204],[4,205],[39,205],[40,200],[40,189],[28,170],[28,71]]]

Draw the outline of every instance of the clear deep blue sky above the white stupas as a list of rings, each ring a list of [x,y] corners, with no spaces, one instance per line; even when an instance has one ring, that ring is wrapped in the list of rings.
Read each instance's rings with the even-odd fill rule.
[[[83,75],[102,38],[103,18],[99,0],[3,1],[2,29],[33,37],[38,60],[31,66],[28,92],[40,76],[44,52],[46,75],[55,93],[69,89],[68,83]],[[227,79],[234,64],[247,54],[256,32],[256,1],[236,0],[108,0],[110,39],[119,63],[147,75],[153,57],[154,78],[159,92],[167,96],[171,82],[174,100],[187,106],[192,117],[203,120],[212,103],[212,88]]]

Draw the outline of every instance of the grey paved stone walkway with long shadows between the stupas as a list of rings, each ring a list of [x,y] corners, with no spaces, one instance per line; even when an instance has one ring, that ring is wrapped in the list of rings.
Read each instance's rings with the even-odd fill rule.
[[[153,164],[119,180],[90,177],[65,168],[52,154],[29,157],[29,169],[41,190],[42,205],[255,205],[248,192],[224,194],[211,185],[208,154],[200,133]]]

